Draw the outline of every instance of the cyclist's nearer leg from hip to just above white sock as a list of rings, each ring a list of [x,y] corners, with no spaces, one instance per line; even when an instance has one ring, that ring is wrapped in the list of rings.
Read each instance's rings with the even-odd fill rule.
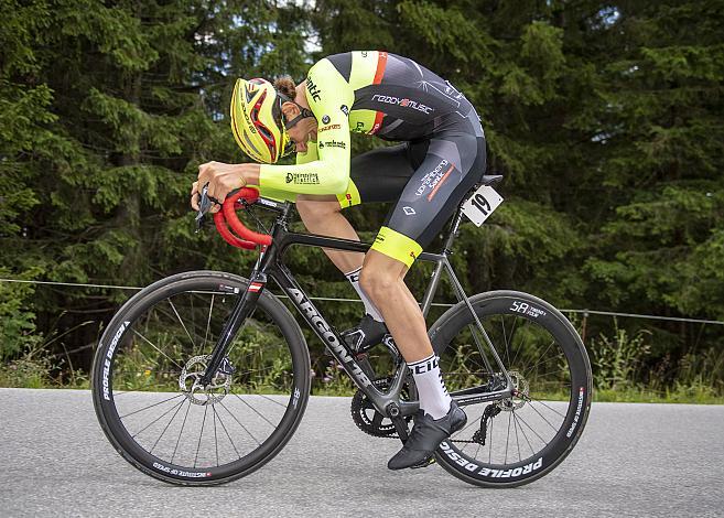
[[[447,133],[413,151],[423,152],[424,160],[377,235],[360,279],[408,363],[431,355],[432,345],[420,307],[404,284],[404,274],[479,181],[485,169],[485,140],[468,133]],[[401,296],[406,296],[406,303]],[[400,312],[399,304],[413,307],[419,317]]]

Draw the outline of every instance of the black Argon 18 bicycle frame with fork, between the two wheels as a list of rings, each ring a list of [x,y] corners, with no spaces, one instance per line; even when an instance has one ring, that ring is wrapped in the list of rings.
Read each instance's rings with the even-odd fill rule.
[[[376,387],[372,384],[372,380],[369,379],[367,374],[365,374],[364,369],[360,367],[357,358],[355,358],[355,355],[349,352],[339,333],[327,323],[324,315],[316,309],[314,303],[304,293],[304,290],[299,285],[291,271],[283,262],[284,252],[290,246],[293,245],[328,248],[343,251],[356,251],[363,253],[367,252],[371,245],[313,234],[291,233],[288,228],[289,213],[292,206],[291,204],[277,203],[264,198],[260,198],[257,203],[278,214],[277,220],[271,228],[272,244],[267,247],[266,250],[262,250],[259,255],[259,259],[257,260],[250,277],[249,288],[244,293],[244,295],[239,298],[238,302],[234,306],[234,310],[231,311],[229,319],[224,325],[219,339],[214,347],[214,352],[212,353],[212,358],[206,367],[204,376],[201,379],[202,384],[204,386],[208,385],[213,379],[226,355],[228,346],[233,342],[239,328],[241,328],[244,325],[246,319],[253,312],[257,305],[257,300],[264,290],[268,279],[271,278],[289,296],[291,303],[301,313],[306,323],[324,343],[334,358],[343,366],[355,385],[357,385],[357,387],[369,398],[369,400],[374,403],[375,408],[379,412],[392,420],[395,425],[398,428],[400,436],[404,439],[407,435],[407,424],[403,425],[403,420],[401,420],[401,418],[412,416],[419,409],[418,401],[404,401],[400,399],[400,393],[407,378],[407,364],[400,359],[400,363],[389,384],[388,390],[383,391]],[[501,399],[510,398],[512,392],[512,382],[449,261],[449,255],[451,253],[453,240],[457,235],[462,217],[462,209],[458,209],[445,238],[445,244],[441,253],[422,252],[418,259],[435,263],[431,282],[425,290],[421,304],[423,315],[426,316],[428,312],[430,311],[433,298],[440,284],[442,272],[444,270],[451,280],[451,284],[455,291],[456,298],[461,302],[464,301],[468,307],[468,311],[473,314],[476,326],[483,335],[488,350],[499,367],[499,371],[504,374],[507,381],[507,387],[503,390],[490,391],[488,385],[480,385],[477,388],[468,388],[460,392],[451,392],[451,396],[453,399],[455,399],[458,406],[466,406],[484,401],[499,401]],[[489,365],[486,355],[483,353],[483,346],[475,331],[472,331],[486,367],[489,373],[493,373],[494,370]]]

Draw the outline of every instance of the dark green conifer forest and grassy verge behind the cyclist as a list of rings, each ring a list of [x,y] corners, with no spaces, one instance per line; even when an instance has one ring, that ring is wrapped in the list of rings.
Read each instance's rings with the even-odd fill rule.
[[[246,273],[253,255],[194,234],[187,199],[199,163],[247,160],[229,129],[234,80],[299,82],[320,57],[379,48],[465,93],[488,172],[505,175],[504,205],[457,240],[469,292],[724,321],[722,0],[0,0],[0,278]],[[355,137],[353,153],[376,145]],[[386,208],[347,215],[370,238]],[[312,294],[353,296],[321,252],[292,263]],[[424,280],[412,276],[418,293]],[[87,386],[130,294],[0,282],[0,385]],[[322,309],[345,328],[361,306]],[[599,400],[724,401],[724,326],[571,317]],[[328,357],[310,345],[322,391]]]

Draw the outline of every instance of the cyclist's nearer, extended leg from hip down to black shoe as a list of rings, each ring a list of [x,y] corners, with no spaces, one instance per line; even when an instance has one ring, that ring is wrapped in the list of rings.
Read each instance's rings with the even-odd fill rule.
[[[415,418],[410,439],[390,458],[390,470],[426,462],[439,444],[467,421],[445,389],[424,317],[404,284],[404,273],[484,170],[482,131],[479,137],[473,132],[446,131],[431,139],[422,164],[406,185],[365,258],[363,288],[385,316],[410,366],[423,410]],[[395,263],[397,268],[392,267]]]

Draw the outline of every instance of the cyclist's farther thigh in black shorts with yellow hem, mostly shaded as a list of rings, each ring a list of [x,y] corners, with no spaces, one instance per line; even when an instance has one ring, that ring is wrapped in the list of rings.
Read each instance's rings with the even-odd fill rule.
[[[370,202],[393,202],[400,197],[414,166],[409,144],[377,148],[352,159],[349,185],[337,195],[342,208]]]

